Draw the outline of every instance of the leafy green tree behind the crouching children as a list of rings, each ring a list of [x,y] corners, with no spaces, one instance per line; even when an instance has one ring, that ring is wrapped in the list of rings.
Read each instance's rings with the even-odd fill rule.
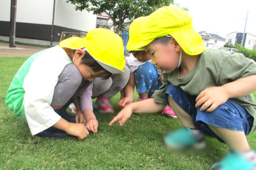
[[[157,8],[173,4],[173,0],[67,0],[75,4],[76,10],[93,11],[101,14],[106,11],[113,20],[114,32],[119,33],[124,21],[146,16]]]

